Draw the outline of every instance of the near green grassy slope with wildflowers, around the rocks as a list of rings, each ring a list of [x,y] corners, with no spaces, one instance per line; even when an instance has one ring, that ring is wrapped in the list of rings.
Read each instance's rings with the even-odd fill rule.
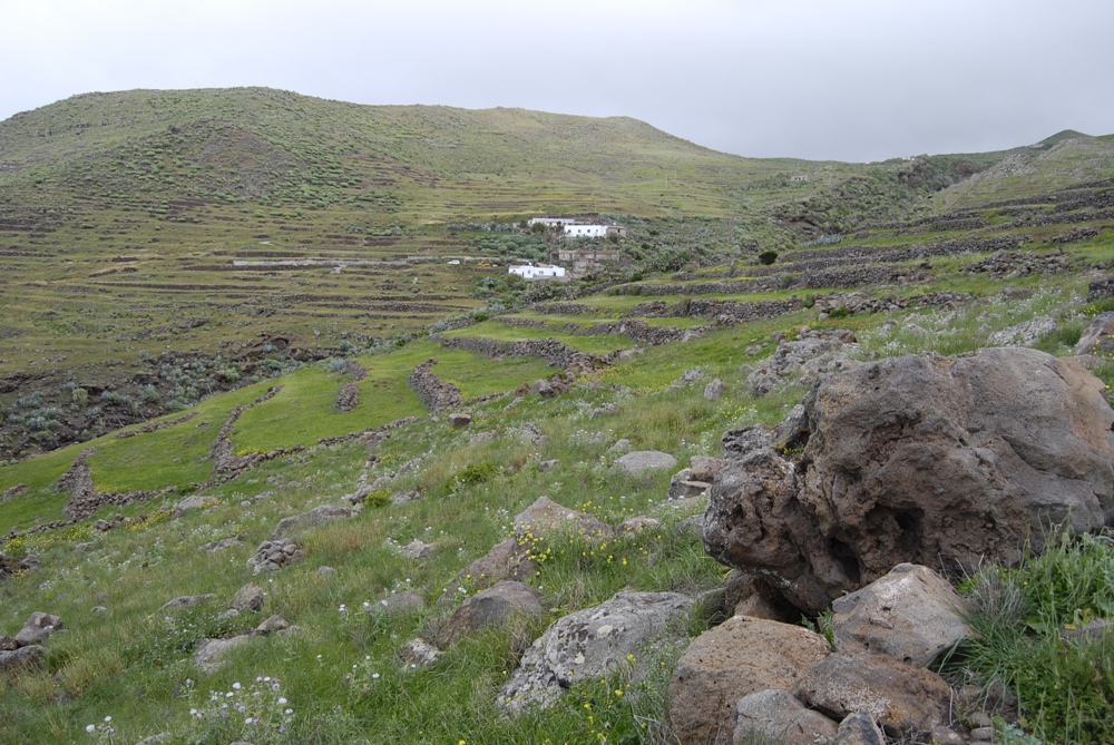
[[[1046,229],[1052,235],[1058,228]],[[890,239],[886,234],[877,238],[879,245],[889,245]],[[494,360],[419,340],[379,354],[323,361],[208,399],[194,419],[167,429],[94,443],[101,449],[89,459],[98,488],[154,488],[175,480],[185,486],[201,476],[195,469],[212,468],[206,453],[232,406],[281,385],[277,395],[237,420],[234,447],[237,452],[307,449],[201,489],[198,496],[211,499],[211,506],[180,517],[173,516],[173,506],[184,494],[168,494],[124,508],[107,507],[63,529],[9,540],[6,556],[18,560],[32,555],[39,568],[3,580],[7,620],[0,633],[16,631],[33,610],[61,616],[66,630],[48,640],[41,670],[0,677],[0,742],[80,743],[98,737],[138,742],[156,733],[182,743],[670,742],[664,692],[680,651],[672,647],[647,651],[655,655],[654,673],[644,684],[631,683],[618,670],[612,678],[575,687],[550,709],[507,718],[496,707],[498,690],[522,649],[550,620],[619,590],[697,594],[723,580],[724,568],[704,553],[697,536],[680,527],[684,518],[703,510],[703,502],[678,507],[667,500],[667,472],[624,474],[613,465],[619,453],[609,450],[612,444],[628,439],[633,449],[663,450],[675,455],[681,468],[693,455],[719,455],[725,430],[780,421],[805,389],[790,381],[755,396],[744,384],[744,366],[760,364],[779,337],[793,337],[804,324],[853,331],[859,341],[856,354],[870,360],[931,351],[961,353],[987,345],[997,331],[1046,316],[1058,329],[1036,344],[1053,354],[1071,354],[1083,326],[1105,307],[1086,302],[1086,272],[1114,259],[1114,243],[1106,231],[1064,248],[1069,271],[1047,274],[1006,277],[965,271],[989,257],[971,253],[932,258],[931,276],[908,286],[798,290],[788,295],[712,293],[706,297],[732,302],[797,294],[802,303],[790,313],[747,323],[709,323],[702,335],[687,342],[636,345],[622,335],[580,334],[592,323],[639,317],[624,315],[637,305],[608,302],[626,295],[585,297],[579,302],[589,311],[567,316],[550,315],[540,306],[498,316],[444,336],[501,342],[551,337],[580,351],[634,346],[641,351],[583,376],[564,395],[516,399],[505,393],[472,403],[468,406],[472,423],[466,429],[423,413],[404,383],[414,365],[438,359],[433,372],[459,385],[466,398],[509,392],[525,381],[551,375],[554,369],[532,357]],[[1039,257],[1048,254],[1048,247],[1036,243],[1018,253]],[[779,264],[782,272],[793,273],[795,267],[803,276],[803,261],[789,255]],[[647,282],[692,291],[696,283],[715,278],[656,276]],[[1004,295],[1007,286],[1015,290]],[[822,312],[818,305],[825,293],[844,297],[846,310],[859,307],[852,300],[856,294],[901,300],[960,291],[967,295],[945,306],[911,304],[841,313],[839,306]],[[811,305],[803,302],[807,294],[813,295]],[[681,292],[661,297],[666,310],[680,312],[692,311],[693,303],[705,296]],[[541,329],[500,321],[516,317],[553,323]],[[345,372],[345,362],[358,363],[367,376],[358,381],[360,406],[339,414],[336,394],[354,380]],[[696,382],[680,383],[694,369],[702,372]],[[1114,383],[1114,365],[1101,367],[1100,373]],[[709,400],[704,385],[715,378],[726,383],[726,393]],[[370,450],[360,440],[314,445],[322,437],[359,432],[411,414],[416,421],[385,432],[389,437]],[[202,423],[206,425],[198,427]],[[536,439],[537,432],[546,439]],[[479,433],[490,434],[476,438]],[[7,525],[18,520],[29,527],[33,517],[60,514],[65,494],[53,484],[78,452],[75,448],[0,468],[3,490],[18,483],[29,488],[0,504]],[[391,473],[398,476],[385,491],[369,497],[362,512],[304,533],[304,560],[274,575],[253,577],[246,561],[282,518],[340,503],[359,484]],[[391,502],[395,493],[414,492],[420,496],[417,501]],[[403,664],[401,645],[416,637],[436,639],[449,614],[473,594],[469,578],[457,589],[457,572],[510,535],[514,516],[543,494],[610,526],[641,514],[656,517],[661,526],[606,545],[545,537],[532,545],[539,563],[529,580],[543,595],[544,618],[444,646],[441,659],[429,668]],[[107,532],[92,528],[95,520],[110,522],[116,512],[128,519]],[[240,540],[221,551],[203,550],[213,541],[236,537]],[[401,549],[414,540],[428,543],[430,552],[408,558]],[[77,552],[77,543],[88,546]],[[1095,550],[1107,551],[1102,556],[1108,559],[1108,549]],[[335,572],[319,574],[323,567]],[[1034,565],[1028,570],[1038,569]],[[263,609],[224,616],[235,592],[253,580],[267,592]],[[364,604],[373,606],[407,590],[420,594],[426,607],[397,616],[365,614]],[[163,609],[173,598],[206,594],[215,597],[192,609]],[[1076,605],[1078,623],[1106,614],[1098,600],[1081,599]],[[95,607],[104,610],[94,611]],[[233,651],[214,673],[194,664],[192,654],[202,639],[248,631],[272,614],[301,630],[256,638]],[[1056,616],[1048,623],[1057,631],[1063,623],[1076,623],[1065,618]],[[706,623],[694,620],[685,634],[700,634]],[[998,675],[1012,685],[1016,682],[1027,731],[1046,742],[1094,742],[1081,733],[1101,732],[1094,729],[1091,713],[1101,710],[1106,678],[1100,683],[1088,678],[1081,685],[1076,678],[1085,666],[1078,659],[1061,647],[1051,647],[1053,653],[1033,647],[1053,644],[1052,637],[1037,638],[1033,628],[1012,629],[1008,656],[1000,649],[976,649],[970,653],[975,656],[964,658],[971,661],[954,672],[955,679],[967,676],[964,679],[980,684],[987,678],[979,676]],[[1106,657],[1091,659],[1095,661],[1087,663],[1088,675],[1108,674],[1102,661]],[[1056,705],[1075,707],[1063,723],[1049,713],[1053,699],[1039,697],[1040,690],[1057,685],[1072,693],[1055,700],[1072,703]],[[280,704],[280,698],[285,702]],[[229,708],[222,709],[222,704]],[[223,717],[222,710],[236,716]],[[113,717],[110,723],[105,722],[107,716]],[[89,725],[91,734],[86,732]]]

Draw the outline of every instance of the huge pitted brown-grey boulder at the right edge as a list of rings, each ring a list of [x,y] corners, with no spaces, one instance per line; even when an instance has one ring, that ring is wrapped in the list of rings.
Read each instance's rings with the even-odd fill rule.
[[[895,357],[822,379],[803,405],[799,459],[729,433],[741,457],[713,481],[704,529],[712,556],[802,610],[901,562],[1013,562],[1049,523],[1114,521],[1114,411],[1072,360]]]

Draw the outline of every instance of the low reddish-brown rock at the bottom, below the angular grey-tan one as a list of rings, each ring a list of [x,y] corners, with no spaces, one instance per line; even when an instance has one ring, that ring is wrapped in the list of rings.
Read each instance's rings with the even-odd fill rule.
[[[867,712],[899,737],[947,722],[951,704],[951,688],[940,676],[870,653],[832,654],[809,668],[792,693],[839,719]]]

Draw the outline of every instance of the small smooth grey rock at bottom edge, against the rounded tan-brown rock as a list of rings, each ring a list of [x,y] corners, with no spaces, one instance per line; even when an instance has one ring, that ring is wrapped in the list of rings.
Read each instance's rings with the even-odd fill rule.
[[[836,723],[788,690],[765,688],[743,696],[735,705],[732,742],[746,745],[754,735],[781,745],[818,745],[836,736]]]

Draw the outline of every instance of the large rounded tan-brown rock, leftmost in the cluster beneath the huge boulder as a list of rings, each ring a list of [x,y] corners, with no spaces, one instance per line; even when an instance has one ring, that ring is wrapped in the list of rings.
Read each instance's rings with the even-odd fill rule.
[[[696,638],[677,660],[670,717],[682,745],[730,743],[735,704],[756,690],[792,688],[831,651],[802,626],[734,616]]]

